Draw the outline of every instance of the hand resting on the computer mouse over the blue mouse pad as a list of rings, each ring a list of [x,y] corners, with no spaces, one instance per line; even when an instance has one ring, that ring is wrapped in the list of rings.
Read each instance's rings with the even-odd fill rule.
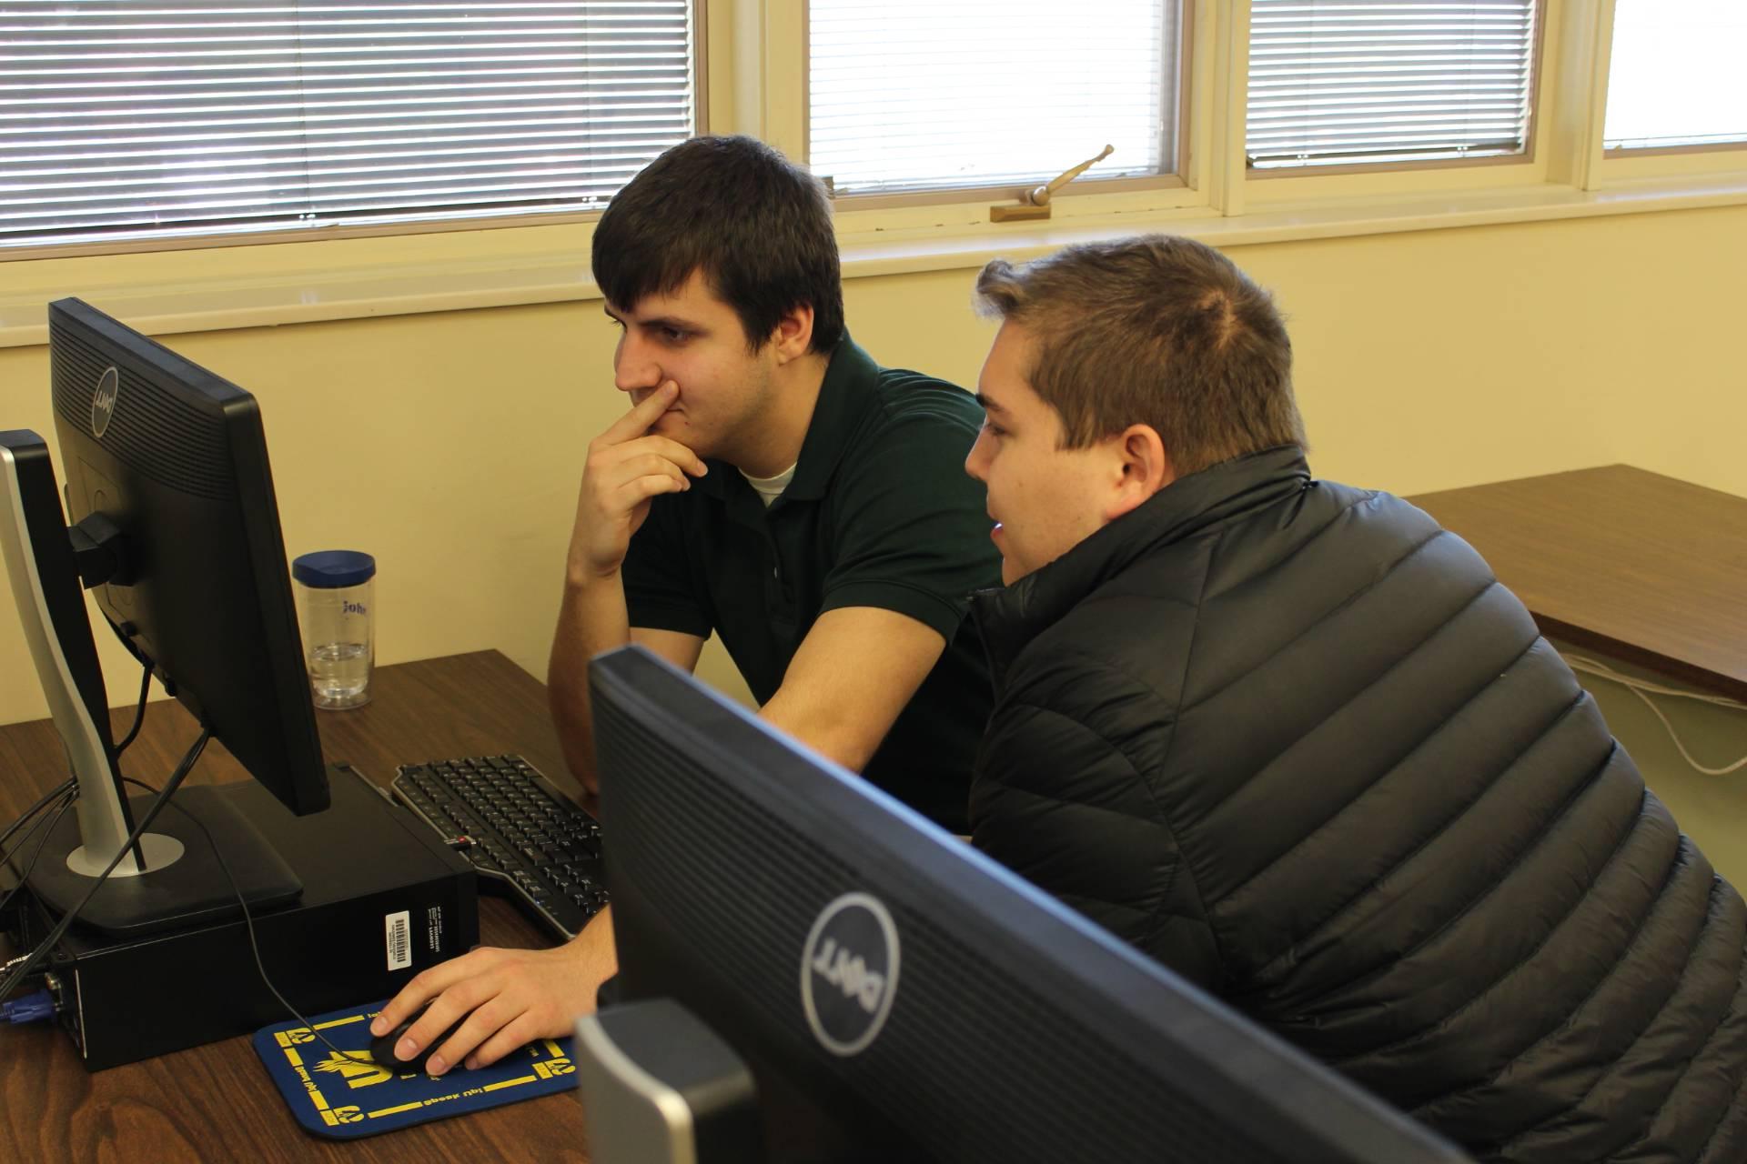
[[[449,1042],[430,1059],[432,1075],[456,1063],[491,1066],[536,1038],[570,1035],[577,1017],[594,1010],[601,983],[618,969],[613,925],[597,913],[571,942],[556,949],[479,949],[425,970],[395,995],[370,1023],[372,1035],[386,1035],[430,1002],[397,1052],[416,1063],[433,1038],[468,1016]],[[412,1047],[407,1047],[412,1042]]]

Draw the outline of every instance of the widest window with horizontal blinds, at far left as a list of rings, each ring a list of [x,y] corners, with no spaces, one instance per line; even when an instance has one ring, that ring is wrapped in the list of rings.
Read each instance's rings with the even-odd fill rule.
[[[599,208],[694,59],[687,0],[7,0],[0,246]]]

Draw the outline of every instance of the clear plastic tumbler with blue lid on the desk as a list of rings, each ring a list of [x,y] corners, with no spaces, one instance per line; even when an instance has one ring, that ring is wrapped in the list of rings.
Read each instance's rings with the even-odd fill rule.
[[[363,707],[376,663],[376,558],[356,550],[306,553],[292,562],[292,579],[316,707]]]

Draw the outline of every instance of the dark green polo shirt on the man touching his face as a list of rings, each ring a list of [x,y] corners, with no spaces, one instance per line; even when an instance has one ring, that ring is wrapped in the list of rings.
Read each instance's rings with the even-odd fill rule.
[[[760,703],[825,611],[938,630],[945,653],[863,775],[954,832],[991,707],[970,592],[1001,585],[984,487],[964,473],[980,424],[968,393],[880,368],[844,337],[783,496],[767,510],[711,461],[690,490],[655,497],[622,571],[632,627],[716,632]]]

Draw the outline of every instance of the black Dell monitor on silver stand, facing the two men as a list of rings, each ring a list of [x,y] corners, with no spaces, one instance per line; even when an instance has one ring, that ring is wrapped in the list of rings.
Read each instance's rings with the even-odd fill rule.
[[[49,368],[66,513],[40,436],[0,433],[0,546],[79,778],[77,827],[51,836],[30,878],[65,911],[135,827],[80,583],[142,667],[290,811],[327,808],[328,787],[255,400],[77,298],[49,304]],[[220,799],[187,789],[176,805],[224,838],[246,899],[297,897],[290,869]],[[236,909],[197,827],[162,813],[152,829],[80,920],[143,934]]]

